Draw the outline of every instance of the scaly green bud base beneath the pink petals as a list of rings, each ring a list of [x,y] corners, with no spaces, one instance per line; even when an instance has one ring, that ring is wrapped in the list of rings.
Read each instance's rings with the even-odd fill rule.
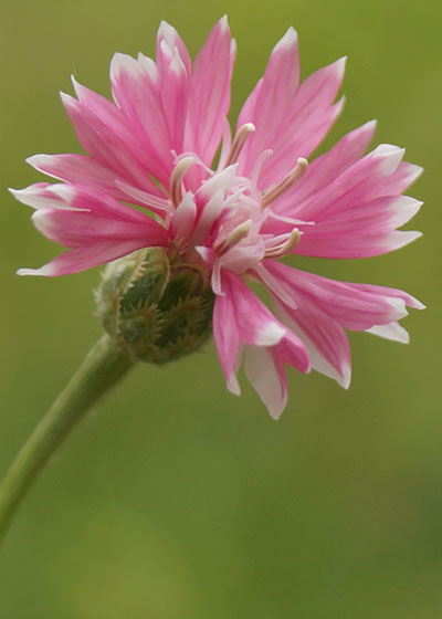
[[[165,364],[212,333],[214,295],[198,264],[148,248],[110,262],[96,291],[97,315],[133,359]]]

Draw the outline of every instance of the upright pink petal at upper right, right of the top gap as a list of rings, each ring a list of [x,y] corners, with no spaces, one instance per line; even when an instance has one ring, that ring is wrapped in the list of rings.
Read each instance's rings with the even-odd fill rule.
[[[273,76],[273,81],[278,82],[278,101],[274,101],[274,91],[265,87],[273,64],[272,54],[264,78],[255,88],[256,94],[249,97],[240,115],[241,123],[251,122],[256,126],[239,158],[241,174],[251,175],[261,153],[267,148],[273,150],[260,175],[261,189],[280,181],[298,157],[309,157],[332,127],[344,103],[332,105],[344,76],[345,59],[317,71],[297,87],[297,41],[294,31],[288,33],[278,43],[281,48],[276,45],[273,52],[276,52],[276,59],[281,56],[280,62],[285,61],[284,71],[275,71]],[[272,116],[272,107],[276,109],[276,118]],[[284,113],[278,114],[283,108]],[[260,125],[261,111],[267,112],[263,118],[264,126],[263,123]]]

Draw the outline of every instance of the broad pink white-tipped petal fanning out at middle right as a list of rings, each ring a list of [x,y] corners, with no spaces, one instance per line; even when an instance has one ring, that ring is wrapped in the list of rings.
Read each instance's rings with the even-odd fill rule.
[[[380,145],[351,164],[370,133],[359,129],[346,136],[344,144],[312,165],[299,187],[295,185],[272,203],[275,213],[309,222],[299,225],[303,234],[294,253],[366,258],[398,249],[420,235],[397,230],[421,206],[412,198],[392,193],[412,182],[420,171],[417,166],[401,164],[403,149]],[[333,179],[334,174],[337,176]]]

